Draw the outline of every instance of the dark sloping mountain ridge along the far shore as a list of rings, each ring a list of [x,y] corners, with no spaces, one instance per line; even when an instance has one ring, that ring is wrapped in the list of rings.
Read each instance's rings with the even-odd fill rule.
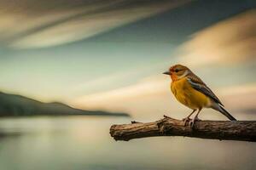
[[[44,103],[15,94],[0,92],[0,116],[129,116],[125,113],[83,111],[62,103]]]

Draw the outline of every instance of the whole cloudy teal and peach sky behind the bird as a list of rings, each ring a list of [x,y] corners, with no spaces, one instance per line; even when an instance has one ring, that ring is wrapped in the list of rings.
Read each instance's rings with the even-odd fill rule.
[[[0,90],[160,116],[189,111],[161,74],[179,63],[231,111],[255,111],[255,7],[253,0],[0,0]]]

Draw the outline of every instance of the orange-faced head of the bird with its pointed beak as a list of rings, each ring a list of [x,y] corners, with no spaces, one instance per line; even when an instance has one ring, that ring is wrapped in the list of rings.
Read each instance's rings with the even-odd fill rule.
[[[186,77],[190,72],[189,68],[184,65],[173,65],[170,67],[169,71],[166,71],[163,74],[170,75],[172,81],[176,81]]]

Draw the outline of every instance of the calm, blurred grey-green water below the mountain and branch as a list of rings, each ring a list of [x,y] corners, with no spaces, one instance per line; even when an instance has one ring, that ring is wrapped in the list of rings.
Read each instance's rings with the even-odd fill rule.
[[[1,170],[255,169],[256,144],[160,137],[116,142],[113,123],[128,118],[1,118]]]

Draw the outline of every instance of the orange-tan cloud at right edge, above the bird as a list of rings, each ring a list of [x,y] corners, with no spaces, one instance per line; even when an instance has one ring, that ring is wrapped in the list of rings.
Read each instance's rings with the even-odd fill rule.
[[[218,22],[195,33],[178,49],[185,65],[232,65],[256,57],[256,10]]]

